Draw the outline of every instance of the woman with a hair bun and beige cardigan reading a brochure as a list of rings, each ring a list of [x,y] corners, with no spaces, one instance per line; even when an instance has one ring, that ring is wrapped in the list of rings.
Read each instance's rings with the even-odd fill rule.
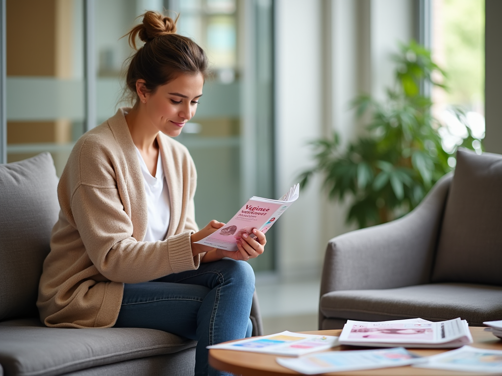
[[[243,236],[237,252],[195,243],[224,224],[198,231],[195,166],[171,138],[195,114],[207,67],[175,24],[147,12],[129,33],[133,48],[137,37],[145,42],[127,72],[135,104],[71,152],[37,305],[47,326],[144,327],[196,339],[196,374],[207,374],[215,372],[207,345],[250,336],[255,277],[245,260],[263,253],[266,238],[255,229],[256,240]]]

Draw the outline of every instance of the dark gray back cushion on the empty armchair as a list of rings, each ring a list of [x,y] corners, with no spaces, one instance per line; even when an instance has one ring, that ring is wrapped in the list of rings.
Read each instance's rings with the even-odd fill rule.
[[[502,286],[500,265],[502,155],[460,149],[432,280]]]

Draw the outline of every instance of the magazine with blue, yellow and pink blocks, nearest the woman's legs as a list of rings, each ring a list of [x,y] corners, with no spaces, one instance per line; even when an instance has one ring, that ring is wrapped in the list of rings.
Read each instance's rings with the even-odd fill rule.
[[[338,337],[283,331],[262,337],[252,337],[231,343],[220,343],[207,348],[261,352],[265,354],[300,356],[314,351],[328,350],[338,345]]]

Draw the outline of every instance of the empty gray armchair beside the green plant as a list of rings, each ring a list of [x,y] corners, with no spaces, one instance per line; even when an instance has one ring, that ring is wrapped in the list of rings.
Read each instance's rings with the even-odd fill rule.
[[[329,241],[320,329],[414,317],[502,319],[502,155],[460,149],[410,214]]]

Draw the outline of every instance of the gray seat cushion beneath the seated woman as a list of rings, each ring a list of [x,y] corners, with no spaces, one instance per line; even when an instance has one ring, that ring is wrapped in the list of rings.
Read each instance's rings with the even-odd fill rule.
[[[47,328],[37,319],[0,323],[0,364],[12,376],[50,376],[146,356],[197,342],[155,329]]]

